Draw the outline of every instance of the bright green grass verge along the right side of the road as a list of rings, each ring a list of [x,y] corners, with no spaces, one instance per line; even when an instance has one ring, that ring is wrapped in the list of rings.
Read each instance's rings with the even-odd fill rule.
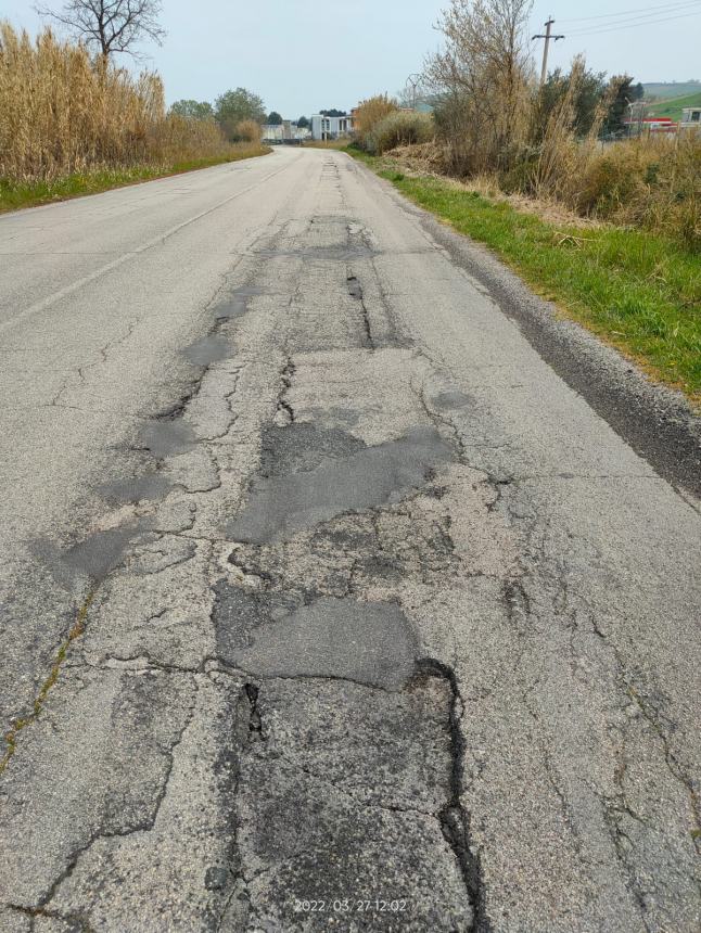
[[[663,237],[555,226],[348,149],[403,194],[485,243],[533,289],[654,378],[701,401],[701,259]]]

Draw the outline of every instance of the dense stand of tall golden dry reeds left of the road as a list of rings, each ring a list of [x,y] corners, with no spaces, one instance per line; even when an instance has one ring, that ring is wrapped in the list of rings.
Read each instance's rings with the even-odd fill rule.
[[[166,116],[157,75],[0,23],[0,179],[214,157],[226,145],[214,123]]]

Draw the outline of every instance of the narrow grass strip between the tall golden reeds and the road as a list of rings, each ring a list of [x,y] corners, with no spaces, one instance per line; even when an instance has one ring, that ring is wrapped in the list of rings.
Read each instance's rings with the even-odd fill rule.
[[[125,188],[141,181],[153,181],[156,178],[167,178],[184,171],[195,171],[199,168],[211,168],[228,162],[239,162],[242,158],[253,158],[267,155],[272,150],[266,145],[252,145],[234,150],[226,155],[193,158],[177,162],[173,165],[138,165],[131,168],[94,169],[76,172],[49,181],[10,181],[0,179],[0,213],[18,210],[21,207],[37,207],[40,204],[51,204],[54,201],[67,201],[86,194],[99,194],[112,188]]]

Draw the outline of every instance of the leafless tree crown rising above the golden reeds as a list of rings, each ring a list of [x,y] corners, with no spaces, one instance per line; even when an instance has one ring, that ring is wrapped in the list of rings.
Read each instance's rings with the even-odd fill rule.
[[[160,46],[165,29],[158,24],[161,0],[67,0],[60,11],[36,7],[107,59],[117,52],[136,55],[135,46],[152,39]]]

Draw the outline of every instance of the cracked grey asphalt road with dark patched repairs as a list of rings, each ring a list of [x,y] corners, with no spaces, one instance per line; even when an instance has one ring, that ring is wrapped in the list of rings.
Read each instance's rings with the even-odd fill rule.
[[[3,933],[699,930],[678,399],[331,151],[0,256]]]

